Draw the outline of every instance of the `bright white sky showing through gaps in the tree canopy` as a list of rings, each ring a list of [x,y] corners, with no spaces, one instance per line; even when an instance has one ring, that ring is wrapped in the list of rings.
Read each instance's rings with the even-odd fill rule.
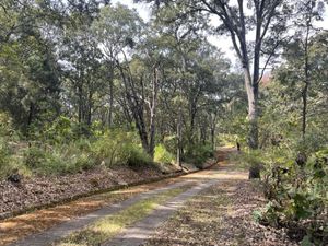
[[[133,0],[112,0],[113,4],[116,4],[118,2],[121,4],[128,5],[129,8],[134,8],[144,21],[150,20],[151,13],[150,13],[149,4],[133,3]],[[212,19],[211,22],[212,22],[211,24],[215,25],[215,23],[219,23],[220,21]],[[318,22],[316,25],[317,25],[317,27],[328,30],[328,11],[325,12],[324,21]],[[219,35],[208,36],[208,40],[212,45],[220,48],[225,54],[225,57],[232,61],[232,63],[236,62],[235,51],[233,50],[231,39],[229,36],[219,36]]]

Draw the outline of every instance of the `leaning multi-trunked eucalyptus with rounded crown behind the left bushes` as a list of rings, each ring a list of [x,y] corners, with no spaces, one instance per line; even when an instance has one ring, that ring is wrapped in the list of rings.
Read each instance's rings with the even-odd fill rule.
[[[131,114],[134,120],[143,149],[152,156],[154,150],[154,121],[151,120],[151,127],[148,129],[144,110],[147,104],[143,81],[144,65],[142,58],[137,54],[144,36],[144,23],[138,13],[122,4],[102,8],[99,19],[93,24],[93,31],[99,42],[99,49],[106,62],[109,63],[109,77],[114,74],[114,69],[118,71],[122,96],[125,96],[124,103],[128,106],[128,114]],[[112,121],[114,103],[113,79],[109,78],[109,121]],[[151,81],[155,83],[156,80],[156,78],[153,78]],[[151,114],[153,115],[152,110]]]

